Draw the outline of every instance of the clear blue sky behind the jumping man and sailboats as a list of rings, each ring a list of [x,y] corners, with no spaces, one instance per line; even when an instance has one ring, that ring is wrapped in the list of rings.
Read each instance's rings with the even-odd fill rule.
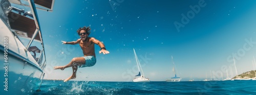
[[[115,5],[114,5],[115,3]],[[72,68],[53,70],[82,56],[79,45],[61,41],[79,39],[76,30],[91,26],[91,35],[110,54],[99,54],[93,67],[80,68],[74,80],[132,81],[137,75],[135,48],[151,81],[174,77],[172,55],[179,76],[204,80],[210,71],[226,76],[251,71],[256,57],[256,1],[55,1],[53,12],[37,11],[46,48],[46,79],[66,79]],[[190,8],[201,6],[197,13]],[[189,21],[184,21],[184,14]],[[188,14],[188,15],[187,15]],[[186,22],[186,23],[182,23]],[[184,27],[179,30],[175,22]],[[254,66],[255,67],[255,66]],[[225,77],[224,77],[225,78]]]

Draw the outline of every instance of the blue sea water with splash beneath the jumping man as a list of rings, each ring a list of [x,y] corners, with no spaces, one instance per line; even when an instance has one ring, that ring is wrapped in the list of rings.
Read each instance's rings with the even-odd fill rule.
[[[95,82],[44,80],[34,94],[256,94],[256,81]]]

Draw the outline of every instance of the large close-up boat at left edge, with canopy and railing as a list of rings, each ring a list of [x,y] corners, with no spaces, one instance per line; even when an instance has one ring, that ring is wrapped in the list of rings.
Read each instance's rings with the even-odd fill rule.
[[[51,12],[53,5],[54,0],[0,0],[1,94],[40,91],[46,56],[37,10]]]

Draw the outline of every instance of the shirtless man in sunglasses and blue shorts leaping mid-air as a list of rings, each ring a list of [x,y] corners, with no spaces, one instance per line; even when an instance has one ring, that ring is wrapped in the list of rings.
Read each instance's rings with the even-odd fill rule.
[[[82,57],[73,58],[69,62],[68,65],[54,67],[55,70],[56,69],[64,70],[65,68],[72,67],[73,74],[69,78],[65,79],[64,82],[66,82],[70,79],[76,78],[76,71],[77,71],[78,67],[79,68],[92,67],[96,64],[94,44],[99,45],[99,47],[100,47],[99,53],[103,53],[103,54],[110,53],[109,51],[106,50],[104,44],[101,43],[99,40],[97,40],[93,37],[88,37],[91,33],[90,30],[91,30],[90,27],[86,27],[86,26],[84,26],[82,28],[80,27],[77,30],[77,33],[80,36],[80,39],[78,39],[77,41],[72,41],[72,42],[61,41],[61,42],[63,42],[62,44],[71,44],[71,45],[79,44],[82,49],[82,52],[83,52]]]

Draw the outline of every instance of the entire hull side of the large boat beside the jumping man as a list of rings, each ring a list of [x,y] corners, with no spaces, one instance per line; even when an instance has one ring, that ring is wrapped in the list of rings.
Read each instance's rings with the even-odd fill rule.
[[[42,69],[2,18],[0,34],[1,94],[34,94],[41,83]]]

